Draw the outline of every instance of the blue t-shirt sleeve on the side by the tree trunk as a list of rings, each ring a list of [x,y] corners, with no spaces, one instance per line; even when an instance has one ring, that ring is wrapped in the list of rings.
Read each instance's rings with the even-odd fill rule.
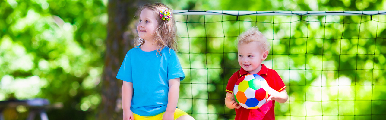
[[[131,53],[130,51],[126,53],[125,59],[122,62],[121,67],[119,68],[117,79],[123,80],[126,82],[133,82],[132,77],[132,68],[131,68]]]

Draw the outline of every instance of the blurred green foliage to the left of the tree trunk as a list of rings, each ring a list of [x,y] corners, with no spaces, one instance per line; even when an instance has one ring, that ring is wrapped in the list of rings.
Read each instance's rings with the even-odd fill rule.
[[[0,6],[0,100],[47,98],[64,105],[49,111],[50,119],[93,119],[107,1],[1,0]]]

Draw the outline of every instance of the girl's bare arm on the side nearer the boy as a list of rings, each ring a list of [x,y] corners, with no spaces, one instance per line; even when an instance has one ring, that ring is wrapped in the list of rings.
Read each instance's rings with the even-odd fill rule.
[[[177,102],[179,95],[179,78],[169,80],[169,95],[168,95],[168,106],[164,113],[163,120],[173,120],[174,112],[176,111]]]

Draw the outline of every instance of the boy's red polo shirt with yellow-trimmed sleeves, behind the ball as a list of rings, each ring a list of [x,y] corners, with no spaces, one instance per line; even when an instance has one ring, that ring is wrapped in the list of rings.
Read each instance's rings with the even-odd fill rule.
[[[281,92],[285,90],[286,86],[281,80],[280,76],[275,70],[268,69],[265,65],[261,64],[261,70],[257,75],[260,75],[264,78],[269,87],[274,90]],[[240,68],[239,71],[235,72],[232,77],[229,78],[226,92],[233,93],[233,88],[235,83],[239,80],[240,77],[249,74],[243,68]],[[247,109],[247,108],[235,108],[236,117],[235,120],[274,120],[275,119],[275,101],[269,101],[257,109]]]

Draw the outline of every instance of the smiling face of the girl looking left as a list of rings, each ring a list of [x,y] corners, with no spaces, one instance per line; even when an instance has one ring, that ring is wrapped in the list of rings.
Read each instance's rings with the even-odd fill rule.
[[[153,33],[158,27],[156,16],[156,13],[149,8],[145,8],[141,11],[139,23],[137,25],[137,31],[140,38],[144,40],[154,40]]]

